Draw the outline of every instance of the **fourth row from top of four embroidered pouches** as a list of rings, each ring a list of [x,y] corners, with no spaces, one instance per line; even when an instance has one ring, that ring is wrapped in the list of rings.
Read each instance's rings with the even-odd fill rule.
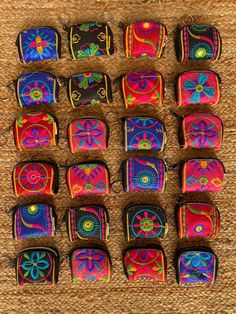
[[[195,158],[179,163],[180,188],[186,192],[221,192],[225,169],[219,159]],[[165,161],[152,157],[132,157],[121,166],[124,192],[164,192],[167,182]],[[17,197],[55,195],[59,188],[59,168],[47,161],[26,161],[13,170],[14,193]],[[79,163],[67,167],[66,183],[72,198],[111,192],[110,173],[103,162]],[[114,187],[113,182],[112,186]]]

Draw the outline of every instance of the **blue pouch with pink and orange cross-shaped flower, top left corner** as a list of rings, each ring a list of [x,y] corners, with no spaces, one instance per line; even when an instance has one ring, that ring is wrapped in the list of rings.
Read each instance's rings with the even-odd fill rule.
[[[16,45],[22,63],[58,60],[61,55],[61,35],[50,26],[28,28],[20,32]]]

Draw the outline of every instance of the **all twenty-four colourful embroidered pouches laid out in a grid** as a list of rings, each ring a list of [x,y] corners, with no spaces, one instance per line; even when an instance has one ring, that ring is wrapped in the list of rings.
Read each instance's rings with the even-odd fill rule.
[[[167,29],[157,21],[120,23],[123,30],[126,57],[160,58],[164,52]],[[103,57],[114,53],[113,34],[106,23],[89,22],[66,27],[68,48],[73,59]],[[16,44],[23,63],[59,59],[61,36],[52,27],[26,29],[18,35]],[[180,26],[176,32],[178,61],[216,61],[221,53],[221,38],[217,29],[208,25]],[[89,59],[88,59],[89,60]],[[138,61],[138,59],[136,59]],[[142,151],[139,157],[129,157],[121,165],[123,192],[165,191],[168,177],[166,161],[148,157],[147,151],[163,152],[167,132],[163,121],[146,116],[146,106],[162,106],[165,81],[161,73],[142,70],[125,73],[112,82],[109,75],[99,71],[75,73],[57,77],[49,72],[28,72],[15,81],[16,99],[21,108],[48,106],[59,102],[59,89],[67,88],[68,101],[73,108],[99,106],[113,102],[112,83],[117,85],[127,110],[143,109],[143,115],[123,117],[122,143],[126,152]],[[175,80],[176,103],[179,107],[217,105],[220,101],[221,79],[210,70],[186,71]],[[65,90],[65,88],[64,88]],[[213,114],[192,113],[178,116],[178,142],[183,149],[214,149],[221,147],[223,122]],[[104,150],[109,145],[110,125],[106,119],[81,117],[70,121],[67,128],[71,153]],[[54,114],[22,113],[13,124],[17,150],[47,150],[59,142],[59,122]],[[174,168],[174,167],[172,167]],[[188,192],[220,192],[225,169],[213,158],[194,158],[181,161],[180,190]],[[103,161],[84,161],[67,167],[66,184],[71,198],[106,195],[111,191],[109,169]],[[15,165],[12,173],[16,197],[54,196],[59,188],[59,166],[56,161],[27,160]],[[57,211],[46,202],[17,205],[12,210],[13,239],[56,236]],[[175,218],[178,237],[215,238],[220,230],[220,214],[210,203],[177,202]],[[104,206],[86,205],[68,208],[64,216],[68,240],[77,243],[68,254],[71,276],[81,281],[110,282],[112,263],[106,248],[109,237],[109,213]],[[157,204],[127,205],[122,211],[124,237],[122,252],[124,273],[130,282],[167,280],[167,259],[159,241],[168,233],[167,213]],[[96,240],[98,244],[92,244]],[[80,243],[83,241],[83,244]],[[87,244],[85,244],[87,243]],[[218,259],[207,246],[179,248],[176,252],[176,276],[179,284],[214,283]],[[15,259],[17,283],[47,283],[58,281],[60,257],[54,247],[30,247],[19,252]]]

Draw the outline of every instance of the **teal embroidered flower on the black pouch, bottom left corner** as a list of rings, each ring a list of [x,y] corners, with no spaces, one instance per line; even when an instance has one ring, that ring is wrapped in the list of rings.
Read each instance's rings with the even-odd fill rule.
[[[21,265],[22,269],[26,271],[24,272],[24,277],[30,275],[33,280],[37,280],[39,277],[43,278],[45,276],[43,270],[48,269],[50,266],[49,261],[44,259],[45,256],[45,252],[41,254],[39,252],[32,252],[30,255],[24,253],[26,260]]]

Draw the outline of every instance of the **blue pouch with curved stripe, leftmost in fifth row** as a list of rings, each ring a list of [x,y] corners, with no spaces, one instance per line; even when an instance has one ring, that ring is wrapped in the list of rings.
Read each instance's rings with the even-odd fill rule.
[[[13,208],[13,239],[54,237],[57,216],[55,208],[45,203],[17,205]]]

